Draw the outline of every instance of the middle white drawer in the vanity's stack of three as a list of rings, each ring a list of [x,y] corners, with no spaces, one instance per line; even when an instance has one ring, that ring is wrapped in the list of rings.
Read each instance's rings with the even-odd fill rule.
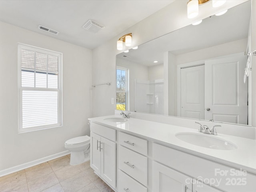
[[[144,186],[148,185],[148,158],[121,145],[118,146],[118,168]]]

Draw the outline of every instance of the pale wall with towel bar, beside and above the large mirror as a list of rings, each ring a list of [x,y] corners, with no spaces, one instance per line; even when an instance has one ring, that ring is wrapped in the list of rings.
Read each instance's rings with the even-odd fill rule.
[[[120,36],[132,32],[132,46],[137,46],[246,1],[229,0],[219,8],[212,8],[210,3],[205,4],[199,7],[198,17],[188,19],[187,0],[177,0],[95,48],[92,82],[96,84],[109,81],[112,85],[95,88],[92,92],[93,116],[114,114],[115,104],[111,104],[111,98],[116,97],[116,54],[122,52],[116,50],[116,41]]]

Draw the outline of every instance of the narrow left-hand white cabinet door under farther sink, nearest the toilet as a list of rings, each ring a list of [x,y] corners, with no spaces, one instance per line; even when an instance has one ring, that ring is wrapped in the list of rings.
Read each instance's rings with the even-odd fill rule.
[[[90,133],[90,166],[98,174],[100,174],[100,136]]]

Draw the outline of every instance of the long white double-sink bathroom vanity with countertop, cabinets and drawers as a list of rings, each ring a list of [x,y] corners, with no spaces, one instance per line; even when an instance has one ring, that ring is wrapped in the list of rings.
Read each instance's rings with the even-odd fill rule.
[[[256,191],[254,139],[117,115],[89,120],[90,165],[115,191]]]

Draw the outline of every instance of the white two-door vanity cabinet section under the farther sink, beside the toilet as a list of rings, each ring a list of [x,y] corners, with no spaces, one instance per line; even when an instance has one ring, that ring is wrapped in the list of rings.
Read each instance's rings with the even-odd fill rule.
[[[116,187],[116,130],[91,123],[90,132],[90,166],[113,188]],[[99,134],[95,132],[104,132]],[[110,136],[105,138],[106,136]],[[110,140],[112,139],[112,140]],[[114,139],[114,140],[113,140]]]

